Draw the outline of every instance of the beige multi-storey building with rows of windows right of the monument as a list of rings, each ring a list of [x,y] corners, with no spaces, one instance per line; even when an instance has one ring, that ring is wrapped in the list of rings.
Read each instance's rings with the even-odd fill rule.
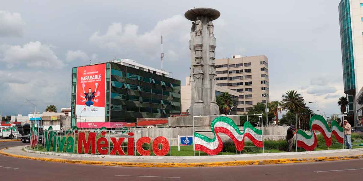
[[[239,93],[237,114],[247,113],[257,102],[269,101],[268,59],[265,55],[216,59],[216,66],[217,85]]]

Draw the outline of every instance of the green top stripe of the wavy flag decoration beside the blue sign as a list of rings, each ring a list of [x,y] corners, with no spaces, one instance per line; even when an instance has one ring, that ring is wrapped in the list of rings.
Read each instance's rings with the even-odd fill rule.
[[[214,132],[214,125],[217,122],[225,122],[225,123],[227,123],[228,125],[232,126],[233,129],[236,130],[236,132],[238,134],[240,134],[240,135],[244,135],[246,128],[250,128],[256,134],[262,135],[262,130],[256,129],[255,127],[253,127],[251,125],[251,123],[249,123],[247,121],[243,124],[243,132],[241,132],[240,129],[238,129],[238,126],[233,122],[233,120],[231,118],[228,118],[228,117],[225,117],[225,116],[220,116],[220,117],[215,118],[212,121],[212,123],[211,123],[211,129],[212,129],[212,132],[214,134],[214,138],[208,138],[207,136],[204,136],[204,135],[199,134],[197,132],[194,133],[194,136],[195,137],[198,137],[200,139],[203,139],[204,141],[206,141],[208,143],[214,142],[216,140],[216,133]]]

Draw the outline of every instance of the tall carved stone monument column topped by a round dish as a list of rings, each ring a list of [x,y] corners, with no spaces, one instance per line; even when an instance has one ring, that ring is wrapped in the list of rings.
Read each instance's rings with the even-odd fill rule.
[[[189,114],[219,115],[216,102],[216,38],[213,20],[220,12],[212,8],[195,8],[184,16],[192,21],[189,49],[191,50],[192,98]]]

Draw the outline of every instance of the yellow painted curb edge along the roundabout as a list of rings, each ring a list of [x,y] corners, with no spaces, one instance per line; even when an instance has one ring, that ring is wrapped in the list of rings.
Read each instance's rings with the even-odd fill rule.
[[[306,162],[317,162],[317,161],[336,161],[336,160],[351,160],[351,159],[363,158],[363,155],[354,155],[354,156],[330,156],[330,157],[303,158],[303,159],[247,160],[247,161],[223,161],[223,162],[206,162],[206,163],[138,163],[138,162],[67,160],[67,159],[56,159],[56,158],[31,157],[31,156],[22,156],[22,155],[14,155],[11,153],[5,153],[4,150],[6,149],[7,148],[0,150],[0,154],[16,158],[51,161],[59,163],[122,166],[122,167],[221,167],[221,166],[242,166],[242,165],[306,163]]]

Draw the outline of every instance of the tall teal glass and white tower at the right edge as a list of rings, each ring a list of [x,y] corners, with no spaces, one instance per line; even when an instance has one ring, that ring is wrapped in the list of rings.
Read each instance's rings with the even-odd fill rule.
[[[342,0],[339,3],[340,40],[342,47],[344,93],[348,99],[348,121],[358,123],[362,105],[356,103],[363,86],[363,1]]]

